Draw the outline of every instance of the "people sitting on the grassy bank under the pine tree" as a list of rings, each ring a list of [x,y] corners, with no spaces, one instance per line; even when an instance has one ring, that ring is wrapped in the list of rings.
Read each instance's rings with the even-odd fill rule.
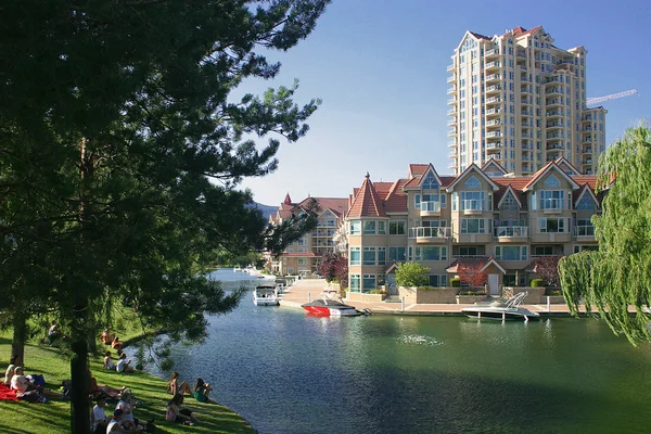
[[[52,322],[50,330],[48,330],[48,337],[50,339],[49,342],[63,337],[63,333],[61,333],[59,324],[55,321]],[[104,369],[122,373],[135,371],[133,367],[130,366],[131,360],[127,359],[127,355],[122,350],[119,337],[108,329],[105,329],[100,339],[102,343],[111,345],[118,354],[118,359],[114,363],[111,357],[111,350],[104,353]],[[20,365],[21,360],[18,356],[12,356],[4,375],[4,384],[16,391],[16,394],[38,391],[38,393],[43,396],[60,398],[64,396],[61,393],[44,388],[43,385],[35,384],[31,376],[24,374],[24,370]],[[123,386],[122,388],[111,387],[108,385],[100,386],[94,376],[92,376],[90,369],[88,369],[87,373],[90,386],[89,396],[95,400],[95,406],[92,409],[90,418],[93,434],[149,432],[150,429],[154,426],[153,420],[146,422],[133,417],[132,410],[137,403],[133,400],[133,395],[127,390],[127,386]],[[64,390],[65,382],[66,381],[62,382]],[[67,380],[67,386],[69,387],[69,380]],[[197,423],[199,419],[190,409],[181,408],[184,401],[184,395],[188,394],[194,396],[199,403],[215,403],[209,397],[212,391],[212,385],[204,382],[202,378],[196,379],[194,388],[191,388],[188,382],[183,381],[179,383],[179,373],[176,371],[173,372],[167,385],[167,392],[171,395],[171,398],[167,403],[165,420],[188,425]],[[117,400],[115,410],[110,416],[107,416],[104,410],[107,400]],[[44,401],[44,399],[42,401]]]

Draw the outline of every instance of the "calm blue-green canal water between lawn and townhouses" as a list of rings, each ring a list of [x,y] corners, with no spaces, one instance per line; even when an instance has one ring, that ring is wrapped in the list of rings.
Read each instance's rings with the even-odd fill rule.
[[[263,434],[651,431],[651,347],[595,319],[317,318],[247,295],[209,333],[177,370]]]

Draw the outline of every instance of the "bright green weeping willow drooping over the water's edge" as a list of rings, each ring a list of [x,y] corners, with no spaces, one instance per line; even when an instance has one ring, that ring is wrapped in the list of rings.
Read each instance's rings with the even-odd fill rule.
[[[599,159],[598,189],[605,190],[601,216],[592,216],[598,252],[559,261],[563,295],[572,314],[593,309],[635,345],[650,340],[651,131],[626,130]],[[631,316],[629,306],[636,314]]]

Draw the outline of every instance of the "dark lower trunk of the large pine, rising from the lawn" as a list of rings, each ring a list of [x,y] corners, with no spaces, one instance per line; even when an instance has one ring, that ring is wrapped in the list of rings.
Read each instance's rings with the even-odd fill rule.
[[[88,336],[86,333],[86,320],[88,303],[80,303],[75,308],[75,321],[72,330],[71,387],[72,400],[72,433],[90,434],[90,406],[88,393],[90,390],[90,378],[88,370]]]

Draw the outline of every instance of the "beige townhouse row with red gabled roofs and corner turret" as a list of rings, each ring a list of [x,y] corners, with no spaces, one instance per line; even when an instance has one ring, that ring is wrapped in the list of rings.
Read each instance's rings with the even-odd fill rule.
[[[403,261],[427,267],[433,286],[448,285],[464,265],[487,272],[492,294],[528,284],[537,257],[597,248],[596,181],[564,157],[531,176],[513,176],[495,159],[471,163],[459,176],[411,164],[393,183],[373,183],[367,174],[344,218],[349,290],[386,284],[396,293]]]

